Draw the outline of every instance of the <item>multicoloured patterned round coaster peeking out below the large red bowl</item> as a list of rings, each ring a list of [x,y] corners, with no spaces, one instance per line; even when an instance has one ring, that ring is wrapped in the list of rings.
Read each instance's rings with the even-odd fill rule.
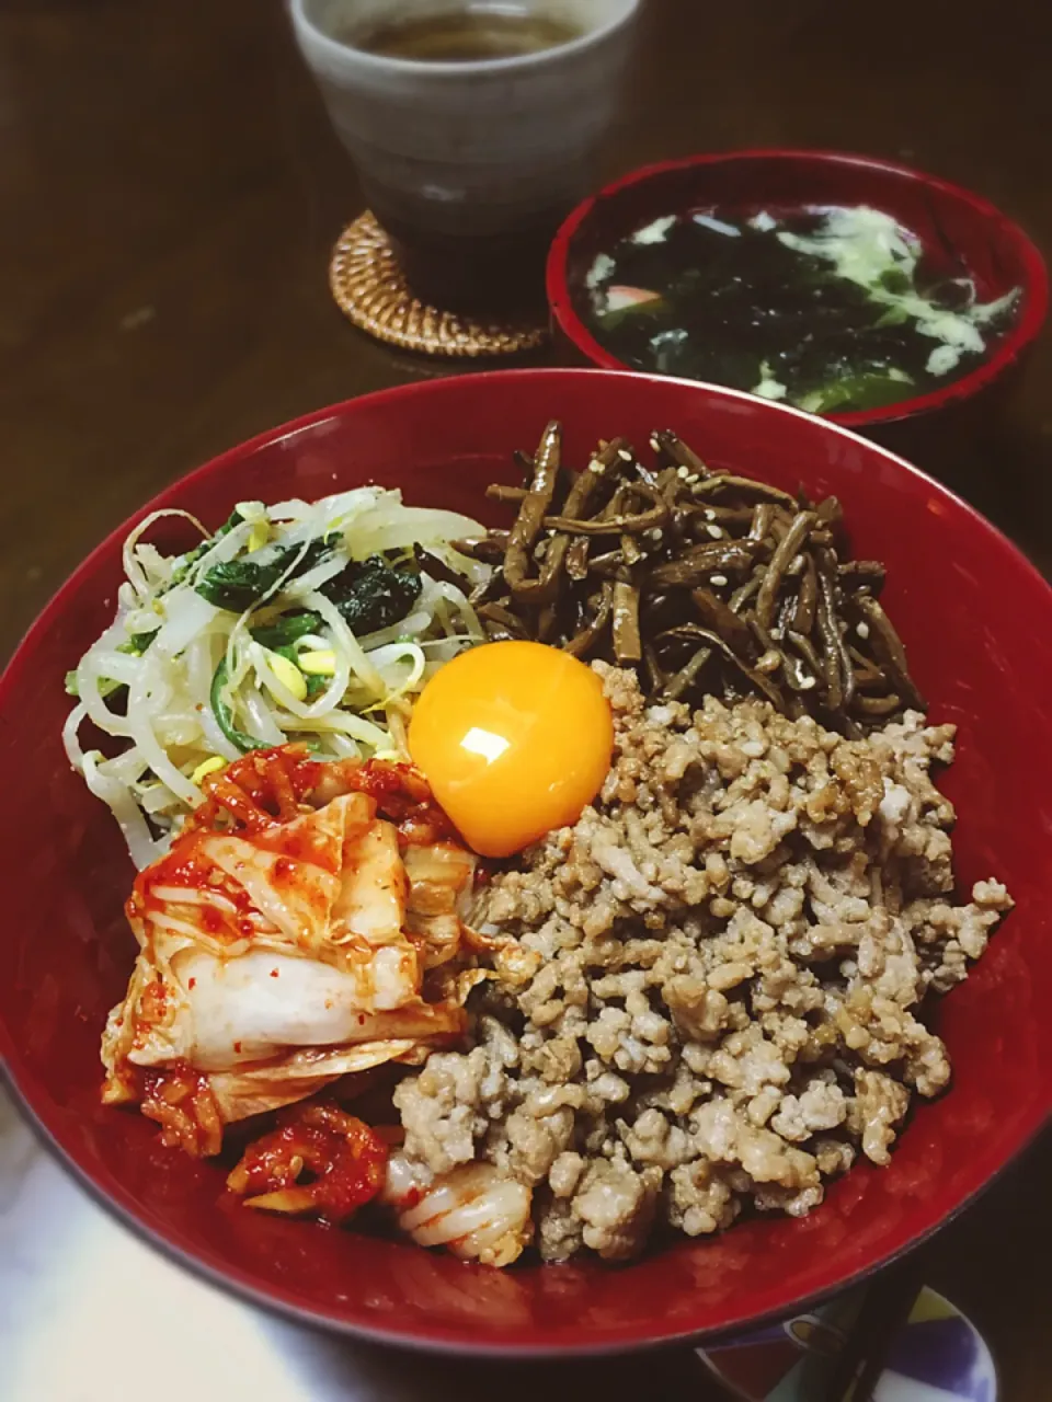
[[[826,1395],[836,1356],[861,1308],[865,1287],[811,1314],[699,1349],[715,1378],[742,1402],[814,1402]],[[986,1340],[944,1295],[924,1288],[888,1349],[874,1402],[997,1402],[997,1373]]]

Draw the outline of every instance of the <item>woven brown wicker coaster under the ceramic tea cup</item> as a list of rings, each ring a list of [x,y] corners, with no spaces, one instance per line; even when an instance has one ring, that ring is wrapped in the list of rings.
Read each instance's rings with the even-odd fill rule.
[[[328,266],[337,306],[377,341],[418,355],[520,355],[547,341],[533,322],[478,321],[442,311],[410,292],[387,234],[366,210],[339,236]]]

